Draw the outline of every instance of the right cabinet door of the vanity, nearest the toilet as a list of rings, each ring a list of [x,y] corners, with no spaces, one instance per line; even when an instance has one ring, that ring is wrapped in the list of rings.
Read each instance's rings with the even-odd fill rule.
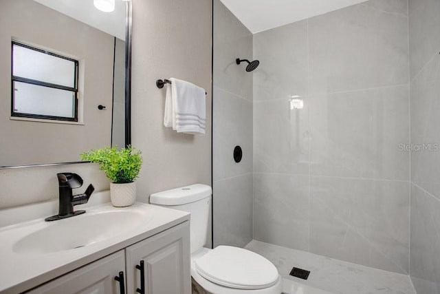
[[[126,248],[127,293],[141,288],[144,262],[144,294],[190,294],[190,226],[178,224]]]

